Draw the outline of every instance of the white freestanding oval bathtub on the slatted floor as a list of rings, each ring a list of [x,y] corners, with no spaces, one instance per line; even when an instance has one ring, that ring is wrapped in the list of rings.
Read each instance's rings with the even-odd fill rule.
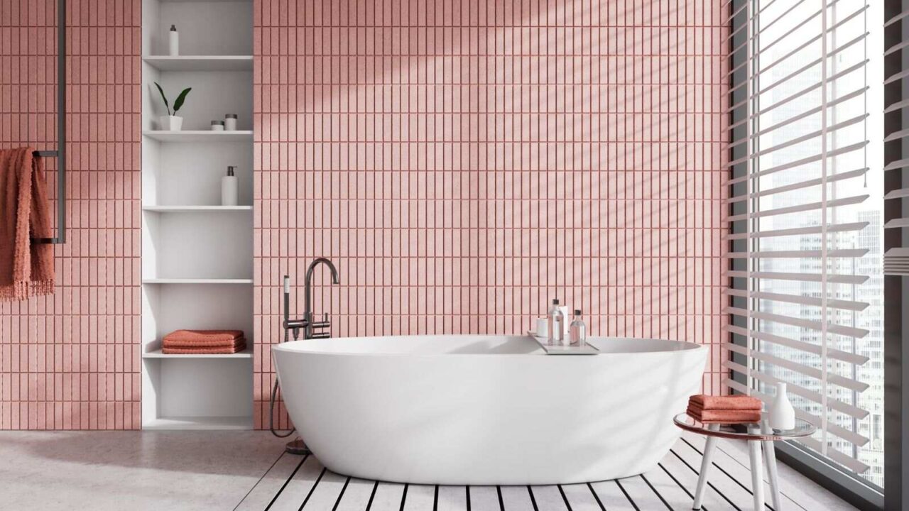
[[[439,485],[645,472],[669,451],[706,348],[594,338],[547,356],[522,336],[352,337],[273,346],[285,405],[330,470]]]

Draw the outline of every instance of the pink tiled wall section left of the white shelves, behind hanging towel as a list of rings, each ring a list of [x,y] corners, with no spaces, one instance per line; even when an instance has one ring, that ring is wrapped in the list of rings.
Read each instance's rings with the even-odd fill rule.
[[[141,3],[67,4],[67,240],[53,296],[0,303],[0,429],[140,425]],[[0,147],[55,148],[55,69],[55,0],[0,2]]]

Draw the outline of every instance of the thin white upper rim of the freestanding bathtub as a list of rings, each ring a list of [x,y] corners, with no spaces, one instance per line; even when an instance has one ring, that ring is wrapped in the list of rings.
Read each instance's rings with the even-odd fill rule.
[[[276,343],[271,346],[273,352],[285,352],[285,353],[300,353],[307,355],[325,355],[325,356],[412,356],[412,357],[423,357],[423,356],[546,356],[543,352],[543,348],[540,348],[538,353],[395,353],[387,351],[333,351],[329,349],[313,349],[313,347],[318,346],[306,346],[306,345],[323,345],[330,341],[341,341],[345,339],[397,339],[397,338],[431,338],[431,337],[496,337],[496,338],[514,338],[514,339],[528,339],[530,336],[524,335],[483,335],[483,334],[442,334],[442,335],[418,335],[418,336],[356,336],[356,337],[329,337],[324,339],[298,339],[295,341],[287,341]],[[644,356],[644,355],[657,355],[657,354],[667,354],[667,353],[689,353],[696,352],[698,350],[706,350],[707,345],[693,343],[690,341],[677,341],[672,339],[660,339],[656,337],[602,337],[594,336],[588,337],[588,340],[610,340],[610,339],[619,339],[619,340],[631,340],[631,341],[655,341],[659,343],[670,343],[672,346],[678,346],[676,349],[661,349],[661,350],[652,350],[652,351],[614,351],[614,352],[600,352],[595,355],[584,355],[584,356],[556,356],[556,358],[589,358],[597,356],[607,356],[607,355],[635,355],[635,356]]]

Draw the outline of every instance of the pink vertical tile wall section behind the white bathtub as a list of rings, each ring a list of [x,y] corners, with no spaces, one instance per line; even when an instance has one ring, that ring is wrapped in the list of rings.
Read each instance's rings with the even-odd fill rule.
[[[521,333],[558,296],[713,346],[722,391],[722,4],[256,0],[255,425],[319,255],[335,336]]]

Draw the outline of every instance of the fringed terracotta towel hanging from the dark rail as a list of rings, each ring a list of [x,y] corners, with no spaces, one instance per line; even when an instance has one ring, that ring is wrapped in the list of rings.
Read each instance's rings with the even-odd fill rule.
[[[0,150],[0,301],[54,293],[45,165],[31,147]]]

